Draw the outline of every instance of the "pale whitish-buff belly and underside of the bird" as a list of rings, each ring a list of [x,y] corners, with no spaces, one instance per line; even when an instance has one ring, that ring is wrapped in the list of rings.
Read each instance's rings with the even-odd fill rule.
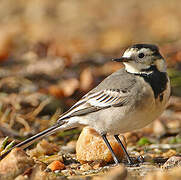
[[[94,128],[98,133],[104,134],[121,134],[133,130],[137,130],[150,124],[158,118],[164,111],[170,96],[170,88],[163,95],[163,100],[155,99],[153,94],[130,107],[111,107],[90,114],[87,121],[83,122],[86,125]],[[83,124],[84,124],[83,123]]]

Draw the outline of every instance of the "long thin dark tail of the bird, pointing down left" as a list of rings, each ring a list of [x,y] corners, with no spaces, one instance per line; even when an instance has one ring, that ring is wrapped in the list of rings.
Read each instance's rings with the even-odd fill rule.
[[[65,124],[65,126],[64,126],[64,124]],[[6,151],[4,154],[2,154],[0,156],[0,160],[3,159],[15,147],[21,147],[21,148],[25,149],[26,147],[33,144],[35,141],[37,141],[37,140],[39,140],[45,136],[51,135],[51,134],[55,133],[57,130],[65,130],[65,129],[73,128],[73,126],[69,126],[69,125],[67,126],[67,125],[66,125],[65,121],[57,122],[52,127],[45,129],[44,131],[42,131],[42,132],[40,132],[40,133],[38,133],[38,134],[36,134],[36,135],[26,139],[26,140],[20,142],[19,144],[13,146],[11,149],[9,149],[8,151]]]

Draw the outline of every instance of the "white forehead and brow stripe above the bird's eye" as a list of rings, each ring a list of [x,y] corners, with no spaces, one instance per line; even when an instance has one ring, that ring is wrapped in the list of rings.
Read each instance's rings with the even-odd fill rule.
[[[124,52],[123,57],[129,58],[132,55],[137,55],[138,53],[151,54],[152,51],[148,48],[141,48],[141,49],[131,48],[131,49],[127,49]]]

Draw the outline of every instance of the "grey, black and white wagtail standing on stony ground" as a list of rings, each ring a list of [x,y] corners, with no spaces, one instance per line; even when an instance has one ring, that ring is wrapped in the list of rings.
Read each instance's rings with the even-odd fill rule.
[[[132,164],[118,135],[142,128],[161,115],[170,97],[170,81],[166,62],[155,45],[135,44],[121,58],[113,60],[122,62],[125,68],[114,72],[83,96],[54,126],[14,147],[25,148],[56,131],[85,125],[102,136],[117,164],[119,160],[106,138],[107,133],[114,135],[128,163]]]

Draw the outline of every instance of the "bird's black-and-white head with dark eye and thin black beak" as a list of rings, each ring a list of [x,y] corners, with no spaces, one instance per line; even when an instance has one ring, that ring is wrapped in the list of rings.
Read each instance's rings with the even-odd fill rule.
[[[135,44],[129,47],[121,58],[113,59],[123,62],[130,73],[151,73],[153,69],[166,72],[166,62],[157,46],[152,44]]]

